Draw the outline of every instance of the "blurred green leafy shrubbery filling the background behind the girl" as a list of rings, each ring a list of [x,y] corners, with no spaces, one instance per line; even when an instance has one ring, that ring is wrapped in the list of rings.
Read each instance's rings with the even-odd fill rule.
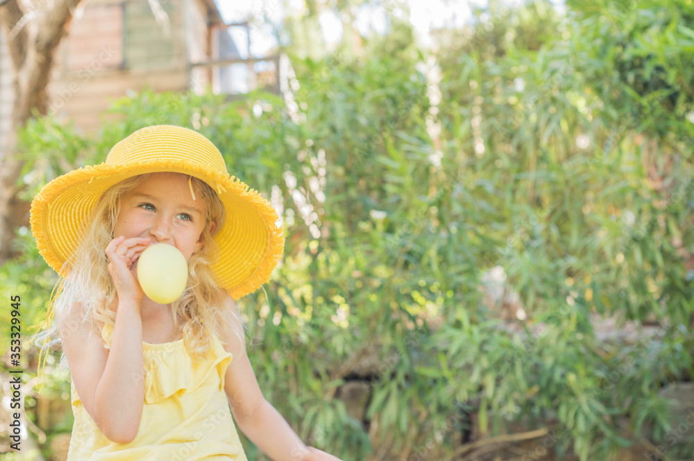
[[[378,8],[386,33],[330,52],[298,33],[316,15],[288,19],[291,107],[145,91],[96,137],[32,119],[23,198],[137,128],[194,128],[281,204],[285,255],[239,306],[266,399],[308,443],[344,460],[693,460],[691,0],[490,1],[428,46],[398,3]],[[27,228],[15,245],[0,290],[28,325],[56,274]],[[25,387],[46,457],[72,423],[57,364]]]

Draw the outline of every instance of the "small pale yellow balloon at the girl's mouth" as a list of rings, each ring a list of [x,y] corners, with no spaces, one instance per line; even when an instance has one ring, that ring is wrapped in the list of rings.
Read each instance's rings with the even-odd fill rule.
[[[188,283],[188,263],[176,246],[148,246],[137,260],[137,280],[149,299],[161,304],[176,301]]]

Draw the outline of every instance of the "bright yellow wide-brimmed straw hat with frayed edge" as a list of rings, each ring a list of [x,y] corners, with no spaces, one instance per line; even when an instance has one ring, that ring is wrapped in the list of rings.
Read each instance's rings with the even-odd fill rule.
[[[139,174],[173,171],[201,179],[219,194],[226,219],[214,234],[219,260],[212,266],[234,299],[269,280],[285,237],[278,215],[260,194],[233,176],[217,147],[180,126],[142,128],[113,146],[105,162],[54,179],[31,203],[31,232],[39,253],[61,276],[81,240],[85,219],[101,194]]]

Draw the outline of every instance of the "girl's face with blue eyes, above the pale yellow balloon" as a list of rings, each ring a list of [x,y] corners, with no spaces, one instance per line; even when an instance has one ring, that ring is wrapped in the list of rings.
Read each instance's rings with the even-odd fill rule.
[[[189,260],[203,246],[206,208],[199,197],[193,200],[187,175],[153,173],[121,195],[114,237],[149,237],[176,246]]]

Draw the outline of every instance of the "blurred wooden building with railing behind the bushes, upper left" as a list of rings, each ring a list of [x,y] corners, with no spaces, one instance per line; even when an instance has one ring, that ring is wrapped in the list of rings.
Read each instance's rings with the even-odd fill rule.
[[[10,129],[12,63],[0,30],[0,144]],[[103,111],[129,90],[212,87],[243,94],[287,90],[286,56],[251,56],[248,24],[224,24],[214,0],[83,1],[56,52],[49,113],[95,133]]]

